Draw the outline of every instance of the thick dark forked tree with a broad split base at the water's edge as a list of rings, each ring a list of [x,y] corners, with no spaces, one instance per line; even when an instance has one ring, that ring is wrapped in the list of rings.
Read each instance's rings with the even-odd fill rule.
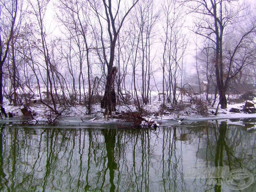
[[[117,73],[117,68],[114,66],[115,60],[115,48],[116,41],[119,35],[119,32],[124,24],[124,20],[135,6],[135,4],[139,0],[132,1],[132,5],[130,8],[127,8],[123,15],[120,12],[121,2],[117,1],[117,4],[113,5],[111,0],[102,0],[103,3],[103,13],[99,13],[99,7],[96,5],[95,1],[89,1],[90,5],[98,18],[98,22],[101,28],[101,34],[103,33],[103,24],[102,24],[102,16],[104,14],[104,20],[107,22],[107,30],[108,30],[108,41],[109,41],[109,57],[107,56],[106,49],[107,46],[103,43],[103,36],[101,35],[101,42],[103,48],[103,59],[105,64],[107,65],[107,76],[106,76],[106,86],[104,97],[101,100],[101,108],[105,108],[105,115],[111,115],[112,111],[116,110],[116,93],[114,89],[114,80]],[[114,7],[113,7],[114,6]],[[124,6],[126,8],[126,6]]]

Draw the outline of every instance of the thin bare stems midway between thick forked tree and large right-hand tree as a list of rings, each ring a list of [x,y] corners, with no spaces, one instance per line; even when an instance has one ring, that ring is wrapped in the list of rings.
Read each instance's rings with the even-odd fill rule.
[[[183,57],[187,47],[186,35],[182,33],[184,11],[177,1],[166,1],[164,4],[164,51],[163,51],[163,87],[164,99],[177,104],[176,91],[178,80],[182,77]],[[164,86],[164,85],[163,85]]]

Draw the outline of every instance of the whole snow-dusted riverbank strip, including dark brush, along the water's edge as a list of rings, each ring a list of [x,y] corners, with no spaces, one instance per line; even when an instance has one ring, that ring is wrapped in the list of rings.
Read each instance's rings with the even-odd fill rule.
[[[235,96],[234,96],[235,97]],[[233,97],[233,98],[234,98]],[[237,97],[237,96],[236,96]],[[167,104],[162,106],[162,102],[155,99],[151,104],[142,105],[140,111],[134,105],[117,105],[116,112],[113,113],[112,118],[104,117],[104,110],[100,108],[99,104],[93,105],[93,112],[91,115],[86,114],[86,107],[83,105],[65,106],[60,107],[61,115],[53,114],[49,108],[40,103],[31,104],[28,110],[31,110],[34,116],[24,116],[21,108],[24,106],[8,106],[4,108],[6,112],[14,115],[14,118],[24,124],[61,124],[61,125],[90,125],[90,124],[111,124],[116,122],[133,123],[136,125],[146,126],[161,126],[165,120],[173,121],[174,124],[180,124],[179,120],[185,119],[186,121],[204,121],[204,120],[217,120],[217,119],[234,119],[234,118],[256,118],[256,114],[243,113],[246,100],[239,100],[235,103],[234,99],[228,101],[226,109],[218,109],[217,106],[199,106],[198,104],[191,104],[190,102],[183,102],[177,105]],[[251,100],[254,103],[255,100]],[[200,109],[207,109],[207,111],[200,111]],[[254,108],[254,107],[253,107]],[[235,110],[237,113],[232,112]],[[9,120],[8,120],[9,119]],[[4,118],[2,121],[12,121],[12,118]]]

